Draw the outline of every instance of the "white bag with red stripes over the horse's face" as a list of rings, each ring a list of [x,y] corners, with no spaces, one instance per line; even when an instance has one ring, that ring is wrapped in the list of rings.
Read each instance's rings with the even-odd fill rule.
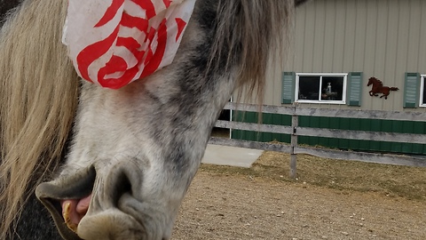
[[[170,65],[195,0],[69,0],[63,42],[79,76],[118,89]]]

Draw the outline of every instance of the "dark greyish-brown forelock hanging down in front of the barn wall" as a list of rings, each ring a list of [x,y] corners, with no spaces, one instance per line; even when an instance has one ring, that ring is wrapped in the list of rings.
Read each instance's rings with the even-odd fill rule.
[[[284,56],[287,47],[285,40],[288,40],[284,38],[288,36],[288,26],[295,2],[285,0],[218,2],[217,38],[210,60],[226,56],[227,67],[238,66],[235,69],[237,86],[240,86],[237,101],[244,93],[248,97],[256,96],[260,106],[264,100],[264,82],[268,65],[272,60],[280,60]],[[232,62],[232,56],[235,55],[239,55],[240,62]],[[217,65],[223,64],[221,60],[216,62]]]

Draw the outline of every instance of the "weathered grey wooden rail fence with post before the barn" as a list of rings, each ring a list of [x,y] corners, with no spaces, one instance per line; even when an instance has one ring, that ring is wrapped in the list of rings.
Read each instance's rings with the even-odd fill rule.
[[[425,113],[416,112],[395,112],[395,111],[359,111],[348,109],[325,109],[325,108],[298,108],[278,107],[278,106],[259,106],[250,104],[227,103],[224,109],[256,112],[262,109],[263,113],[281,114],[292,116],[291,126],[273,125],[273,124],[249,124],[241,122],[230,122],[219,120],[217,127],[229,128],[233,130],[245,130],[255,132],[272,132],[291,135],[291,144],[257,142],[249,140],[230,140],[224,138],[211,138],[209,143],[240,148],[253,148],[267,151],[277,151],[291,155],[290,176],[296,178],[296,156],[297,154],[308,154],[312,156],[327,157],[341,160],[354,160],[378,164],[398,164],[426,167],[426,157],[390,155],[367,152],[355,152],[330,148],[304,147],[297,144],[298,136],[327,137],[335,139],[348,140],[377,140],[387,142],[408,142],[426,144],[426,135],[409,134],[395,132],[372,132],[372,131],[351,131],[320,129],[311,127],[299,127],[298,116],[328,116],[328,117],[346,117],[346,118],[369,118],[386,119],[400,121],[422,122],[426,119]]]

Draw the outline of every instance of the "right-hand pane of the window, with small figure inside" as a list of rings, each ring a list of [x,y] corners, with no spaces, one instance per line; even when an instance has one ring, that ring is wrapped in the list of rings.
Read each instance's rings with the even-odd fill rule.
[[[343,100],[343,76],[323,76],[321,100]]]

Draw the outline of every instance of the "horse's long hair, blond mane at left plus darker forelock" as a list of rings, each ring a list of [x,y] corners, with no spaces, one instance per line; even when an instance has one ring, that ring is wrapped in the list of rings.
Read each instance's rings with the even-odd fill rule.
[[[219,0],[217,8],[209,70],[233,68],[238,85],[248,84],[261,102],[268,63],[283,56],[294,1]],[[60,41],[66,15],[66,0],[24,1],[0,31],[0,239],[28,194],[59,167],[74,121],[78,77]]]

